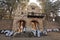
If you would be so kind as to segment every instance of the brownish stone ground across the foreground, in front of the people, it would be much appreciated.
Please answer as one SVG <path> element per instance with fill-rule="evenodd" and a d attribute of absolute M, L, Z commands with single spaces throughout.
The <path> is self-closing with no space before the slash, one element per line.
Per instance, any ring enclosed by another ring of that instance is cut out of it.
<path fill-rule="evenodd" d="M 47 36 L 42 36 L 40 38 L 20 38 L 20 37 L 5 37 L 5 35 L 0 34 L 0 40 L 60 40 L 59 32 L 49 32 Z"/>

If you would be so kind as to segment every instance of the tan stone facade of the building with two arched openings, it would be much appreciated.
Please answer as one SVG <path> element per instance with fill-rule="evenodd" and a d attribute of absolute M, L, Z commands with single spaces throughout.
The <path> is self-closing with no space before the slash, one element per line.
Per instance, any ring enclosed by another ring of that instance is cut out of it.
<path fill-rule="evenodd" d="M 18 31 L 20 29 L 18 21 L 24 20 L 26 22 L 26 30 L 27 31 L 31 31 L 31 29 L 32 29 L 31 21 L 37 21 L 39 23 L 38 26 L 39 26 L 40 31 L 43 31 L 43 21 L 45 20 L 45 18 L 28 18 L 28 14 L 31 12 L 34 12 L 34 14 L 36 14 L 36 16 L 39 16 L 39 15 L 37 15 L 38 13 L 42 14 L 40 7 L 38 7 L 34 3 L 27 5 L 26 8 L 23 10 L 22 10 L 21 6 L 19 5 L 17 7 L 17 9 L 14 11 L 15 16 L 14 16 L 12 30 Z"/>

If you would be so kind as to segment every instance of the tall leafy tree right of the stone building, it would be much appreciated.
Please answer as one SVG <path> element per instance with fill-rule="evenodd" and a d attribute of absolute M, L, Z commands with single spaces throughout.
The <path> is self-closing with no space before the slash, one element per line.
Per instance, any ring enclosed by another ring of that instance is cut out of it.
<path fill-rule="evenodd" d="M 46 2 L 45 2 L 45 13 L 46 13 L 46 16 L 48 17 L 48 19 L 50 19 L 49 15 L 51 14 L 51 12 L 53 14 L 53 17 L 55 15 L 57 15 L 57 11 L 59 9 L 59 6 L 60 6 L 59 0 L 57 0 L 55 2 L 51 2 L 50 0 L 46 0 Z"/>

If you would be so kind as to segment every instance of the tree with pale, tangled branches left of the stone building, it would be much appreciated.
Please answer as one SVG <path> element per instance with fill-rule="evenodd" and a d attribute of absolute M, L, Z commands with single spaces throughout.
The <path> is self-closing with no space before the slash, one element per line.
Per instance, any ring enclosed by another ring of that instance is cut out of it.
<path fill-rule="evenodd" d="M 10 18 L 11 18 L 13 9 L 16 9 L 16 7 L 18 5 L 16 3 L 16 0 L 5 0 L 5 1 L 3 0 L 3 1 L 0 1 L 0 2 L 1 2 L 1 4 L 0 4 L 0 10 L 4 10 L 4 11 L 1 11 L 0 14 L 2 15 L 2 14 L 5 14 L 7 11 L 9 11 Z"/>

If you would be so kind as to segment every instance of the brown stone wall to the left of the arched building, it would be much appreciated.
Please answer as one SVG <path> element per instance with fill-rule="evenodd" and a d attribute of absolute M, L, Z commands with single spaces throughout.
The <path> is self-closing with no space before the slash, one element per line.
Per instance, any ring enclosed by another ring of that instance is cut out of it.
<path fill-rule="evenodd" d="M 13 20 L 0 20 L 0 30 L 12 29 Z"/>

